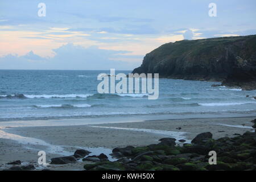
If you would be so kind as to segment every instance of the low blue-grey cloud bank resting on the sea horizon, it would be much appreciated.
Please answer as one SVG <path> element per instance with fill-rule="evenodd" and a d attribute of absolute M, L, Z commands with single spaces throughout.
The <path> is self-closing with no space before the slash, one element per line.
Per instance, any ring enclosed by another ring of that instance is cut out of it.
<path fill-rule="evenodd" d="M 133 69 L 141 60 L 136 56 L 125 55 L 129 51 L 100 49 L 97 46 L 84 48 L 72 43 L 52 49 L 53 57 L 41 57 L 33 51 L 24 56 L 6 55 L 0 57 L 2 69 Z"/>

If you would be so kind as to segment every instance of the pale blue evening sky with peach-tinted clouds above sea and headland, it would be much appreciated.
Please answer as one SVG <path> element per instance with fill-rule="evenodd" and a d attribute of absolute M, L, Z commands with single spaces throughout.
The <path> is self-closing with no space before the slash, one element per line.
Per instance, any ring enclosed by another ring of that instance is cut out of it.
<path fill-rule="evenodd" d="M 254 35 L 255 19 L 255 0 L 0 0 L 0 69 L 132 70 L 165 43 Z"/>

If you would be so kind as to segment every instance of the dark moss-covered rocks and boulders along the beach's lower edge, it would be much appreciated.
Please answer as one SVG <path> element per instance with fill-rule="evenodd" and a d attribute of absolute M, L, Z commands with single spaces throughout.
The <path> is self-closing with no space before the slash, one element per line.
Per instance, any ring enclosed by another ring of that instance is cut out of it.
<path fill-rule="evenodd" d="M 251 121 L 256 128 L 256 119 Z M 120 171 L 120 170 L 155 170 L 155 171 L 214 171 L 214 170 L 256 170 L 256 133 L 234 134 L 233 138 L 213 139 L 210 132 L 197 135 L 191 144 L 185 140 L 162 138 L 158 144 L 143 147 L 127 146 L 114 148 L 110 162 L 105 154 L 90 155 L 90 151 L 76 150 L 72 156 L 52 158 L 51 164 L 76 163 L 82 159 L 85 170 Z M 177 144 L 177 143 L 178 144 Z M 183 143 L 183 144 L 181 144 Z M 209 164 L 209 151 L 216 151 L 217 164 Z M 34 170 L 32 165 L 20 166 L 19 160 L 8 163 L 13 167 L 5 170 Z M 47 169 L 44 169 L 47 170 Z"/>

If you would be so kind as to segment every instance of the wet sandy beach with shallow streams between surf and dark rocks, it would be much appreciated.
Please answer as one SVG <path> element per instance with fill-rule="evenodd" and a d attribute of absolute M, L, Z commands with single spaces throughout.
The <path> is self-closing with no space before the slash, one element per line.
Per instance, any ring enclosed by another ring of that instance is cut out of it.
<path fill-rule="evenodd" d="M 96 125 L 86 123 L 75 126 L 1 127 L 0 168 L 10 168 L 11 165 L 6 163 L 21 160 L 22 164 L 33 164 L 38 170 L 82 170 L 83 165 L 88 162 L 39 166 L 38 151 L 46 151 L 47 162 L 57 156 L 73 155 L 80 148 L 91 151 L 90 155 L 104 153 L 110 160 L 114 160 L 109 154 L 115 147 L 145 146 L 158 143 L 164 137 L 185 139 L 185 143 L 189 143 L 197 134 L 207 131 L 213 134 L 214 139 L 233 137 L 234 134 L 253 131 L 250 122 L 253 119 L 254 117 L 164 119 Z"/>

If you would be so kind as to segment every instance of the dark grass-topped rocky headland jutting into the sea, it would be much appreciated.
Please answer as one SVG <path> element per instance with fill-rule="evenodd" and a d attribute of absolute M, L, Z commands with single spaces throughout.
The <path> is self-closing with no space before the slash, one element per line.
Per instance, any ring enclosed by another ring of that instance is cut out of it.
<path fill-rule="evenodd" d="M 256 35 L 167 43 L 147 53 L 133 73 L 256 88 Z"/>

